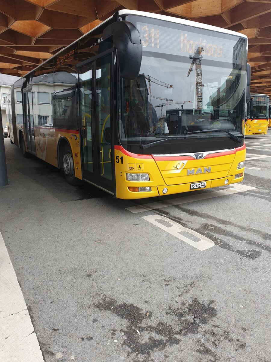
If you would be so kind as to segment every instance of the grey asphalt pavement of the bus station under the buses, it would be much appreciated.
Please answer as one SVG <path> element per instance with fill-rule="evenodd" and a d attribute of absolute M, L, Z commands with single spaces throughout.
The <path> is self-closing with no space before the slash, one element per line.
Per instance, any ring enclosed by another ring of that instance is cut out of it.
<path fill-rule="evenodd" d="M 124 201 L 5 139 L 0 231 L 44 361 L 271 361 L 271 130 L 246 147 L 241 184 Z"/>

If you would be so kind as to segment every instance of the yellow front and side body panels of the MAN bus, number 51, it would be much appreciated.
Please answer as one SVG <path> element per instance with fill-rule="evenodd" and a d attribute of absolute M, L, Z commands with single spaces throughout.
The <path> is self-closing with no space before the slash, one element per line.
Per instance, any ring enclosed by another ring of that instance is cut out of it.
<path fill-rule="evenodd" d="M 19 130 L 23 131 L 23 128 L 20 127 Z M 75 176 L 82 180 L 78 131 L 35 126 L 36 156 L 57 167 L 57 145 L 61 139 L 68 141 L 73 155 Z M 126 151 L 122 146 L 115 145 L 115 196 L 120 199 L 140 199 L 163 196 L 165 188 L 167 195 L 199 190 L 190 189 L 190 185 L 194 182 L 206 182 L 204 189 L 208 189 L 243 180 L 244 167 L 237 169 L 237 166 L 245 161 L 245 144 L 226 152 L 209 154 L 206 152 L 206 154 L 202 159 L 194 159 L 189 155 L 176 157 L 137 155 Z M 117 159 L 121 159 L 121 162 L 116 162 Z M 204 173 L 205 168 L 211 168 L 211 172 Z M 188 170 L 193 171 L 193 169 L 194 174 L 188 175 Z M 150 181 L 128 181 L 127 173 L 148 173 Z M 136 191 L 146 186 L 149 186 L 151 191 Z"/>

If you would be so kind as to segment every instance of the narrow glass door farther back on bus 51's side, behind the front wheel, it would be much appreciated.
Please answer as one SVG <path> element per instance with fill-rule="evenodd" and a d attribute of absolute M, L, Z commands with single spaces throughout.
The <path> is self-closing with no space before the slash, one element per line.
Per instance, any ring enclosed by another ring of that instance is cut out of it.
<path fill-rule="evenodd" d="M 27 151 L 36 154 L 34 119 L 33 119 L 33 96 L 32 87 L 23 90 L 23 109 L 25 122 L 25 136 L 27 143 Z"/>

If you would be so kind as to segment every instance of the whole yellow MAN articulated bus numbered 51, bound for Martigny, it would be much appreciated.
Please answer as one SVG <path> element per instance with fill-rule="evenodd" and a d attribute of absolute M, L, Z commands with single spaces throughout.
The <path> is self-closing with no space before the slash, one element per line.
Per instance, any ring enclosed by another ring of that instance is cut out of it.
<path fill-rule="evenodd" d="M 10 140 L 121 199 L 240 182 L 247 47 L 231 30 L 120 10 L 14 83 Z"/>

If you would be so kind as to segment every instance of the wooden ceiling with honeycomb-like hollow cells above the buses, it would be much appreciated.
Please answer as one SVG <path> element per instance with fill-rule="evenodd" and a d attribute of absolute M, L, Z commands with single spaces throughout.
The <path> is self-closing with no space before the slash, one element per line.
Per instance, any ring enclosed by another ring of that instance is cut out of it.
<path fill-rule="evenodd" d="M 271 96 L 271 0 L 0 0 L 0 73 L 25 75 L 120 9 L 247 35 L 251 92 Z"/>

